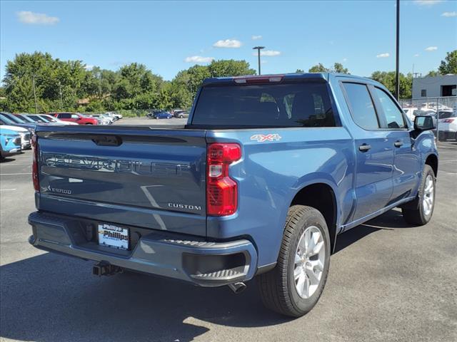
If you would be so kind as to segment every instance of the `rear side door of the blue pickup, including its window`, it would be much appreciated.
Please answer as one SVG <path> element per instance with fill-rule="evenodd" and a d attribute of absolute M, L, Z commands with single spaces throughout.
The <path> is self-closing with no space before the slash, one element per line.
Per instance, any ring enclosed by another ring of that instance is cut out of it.
<path fill-rule="evenodd" d="M 368 86 L 343 81 L 352 120 L 348 122 L 356 149 L 356 209 L 353 221 L 386 207 L 392 193 L 393 145 L 383 130 Z"/>

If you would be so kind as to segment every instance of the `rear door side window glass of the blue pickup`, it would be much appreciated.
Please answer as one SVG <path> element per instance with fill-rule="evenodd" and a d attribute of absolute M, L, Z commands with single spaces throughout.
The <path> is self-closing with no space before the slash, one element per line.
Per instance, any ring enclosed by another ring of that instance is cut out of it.
<path fill-rule="evenodd" d="M 360 83 L 343 83 L 348 95 L 348 105 L 354 122 L 366 130 L 379 128 L 378 117 L 374 109 L 373 100 L 366 85 Z"/>

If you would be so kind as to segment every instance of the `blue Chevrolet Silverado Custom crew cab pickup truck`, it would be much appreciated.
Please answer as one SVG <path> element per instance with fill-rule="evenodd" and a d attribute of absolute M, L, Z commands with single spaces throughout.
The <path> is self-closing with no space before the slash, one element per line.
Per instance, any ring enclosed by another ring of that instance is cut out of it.
<path fill-rule="evenodd" d="M 39 126 L 29 242 L 97 275 L 236 293 L 256 276 L 269 309 L 301 316 L 338 234 L 394 207 L 431 219 L 433 125 L 368 78 L 294 73 L 207 79 L 183 126 Z"/>

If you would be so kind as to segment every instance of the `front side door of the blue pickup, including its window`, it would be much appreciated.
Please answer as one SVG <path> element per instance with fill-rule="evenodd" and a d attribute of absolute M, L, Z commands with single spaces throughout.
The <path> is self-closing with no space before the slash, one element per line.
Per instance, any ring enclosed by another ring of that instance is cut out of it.
<path fill-rule="evenodd" d="M 408 123 L 403 111 L 390 94 L 376 86 L 369 87 L 379 113 L 381 127 L 388 130 L 388 144 L 393 147 L 392 195 L 389 202 L 410 197 L 418 184 L 418 154 L 413 151 Z"/>

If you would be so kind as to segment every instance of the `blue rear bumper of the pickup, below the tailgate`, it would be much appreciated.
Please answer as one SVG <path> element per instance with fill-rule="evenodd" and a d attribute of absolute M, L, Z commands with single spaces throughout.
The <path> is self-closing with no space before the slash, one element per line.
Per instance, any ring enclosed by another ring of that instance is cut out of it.
<path fill-rule="evenodd" d="M 257 252 L 246 239 L 206 242 L 192 236 L 148 230 L 131 251 L 89 241 L 86 225 L 72 217 L 34 212 L 30 244 L 81 259 L 104 261 L 125 269 L 180 279 L 199 286 L 247 281 L 256 273 Z"/>

